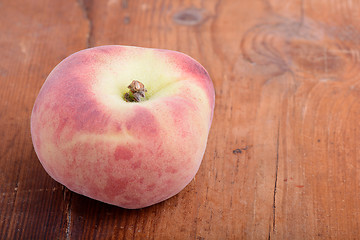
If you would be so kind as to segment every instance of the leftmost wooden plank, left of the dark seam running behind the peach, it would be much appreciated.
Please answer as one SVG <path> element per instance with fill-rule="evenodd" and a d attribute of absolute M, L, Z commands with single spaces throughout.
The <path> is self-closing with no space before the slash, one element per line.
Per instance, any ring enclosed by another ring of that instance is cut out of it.
<path fill-rule="evenodd" d="M 75 1 L 1 2 L 0 239 L 65 237 L 67 203 L 32 148 L 30 113 L 51 69 L 86 47 L 81 16 Z"/>

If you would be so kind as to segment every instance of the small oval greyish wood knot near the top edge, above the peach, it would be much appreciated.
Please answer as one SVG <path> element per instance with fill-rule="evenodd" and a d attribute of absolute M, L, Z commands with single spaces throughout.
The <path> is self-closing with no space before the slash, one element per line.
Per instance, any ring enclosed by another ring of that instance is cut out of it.
<path fill-rule="evenodd" d="M 187 8 L 177 12 L 173 16 L 173 21 L 179 25 L 194 26 L 203 21 L 203 9 Z"/>

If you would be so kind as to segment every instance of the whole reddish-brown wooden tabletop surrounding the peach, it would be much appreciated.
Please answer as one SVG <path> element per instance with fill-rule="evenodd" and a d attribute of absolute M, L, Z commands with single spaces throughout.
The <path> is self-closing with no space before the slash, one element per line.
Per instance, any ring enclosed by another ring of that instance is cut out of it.
<path fill-rule="evenodd" d="M 328 0 L 0 1 L 0 239 L 360 239 L 360 3 Z M 34 100 L 78 50 L 178 50 L 216 107 L 196 178 L 125 210 L 42 168 Z"/>

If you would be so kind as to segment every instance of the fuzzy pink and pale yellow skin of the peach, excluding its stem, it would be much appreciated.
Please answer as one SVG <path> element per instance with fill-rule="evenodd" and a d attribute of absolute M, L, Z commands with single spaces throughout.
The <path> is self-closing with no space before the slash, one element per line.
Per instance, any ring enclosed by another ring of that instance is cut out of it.
<path fill-rule="evenodd" d="M 132 80 L 144 101 L 126 102 Z M 180 192 L 202 161 L 215 93 L 179 52 L 102 46 L 64 59 L 46 79 L 31 136 L 46 172 L 70 190 L 123 208 Z"/>

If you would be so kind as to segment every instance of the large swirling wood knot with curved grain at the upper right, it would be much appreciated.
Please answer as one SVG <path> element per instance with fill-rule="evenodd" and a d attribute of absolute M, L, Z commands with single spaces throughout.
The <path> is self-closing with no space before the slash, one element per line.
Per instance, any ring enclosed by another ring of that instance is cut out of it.
<path fill-rule="evenodd" d="M 349 71 L 357 75 L 355 51 L 333 37 L 324 41 L 324 34 L 326 29 L 316 22 L 270 18 L 246 32 L 241 49 L 244 59 L 260 65 L 268 76 L 292 72 L 305 78 L 344 79 Z"/>

